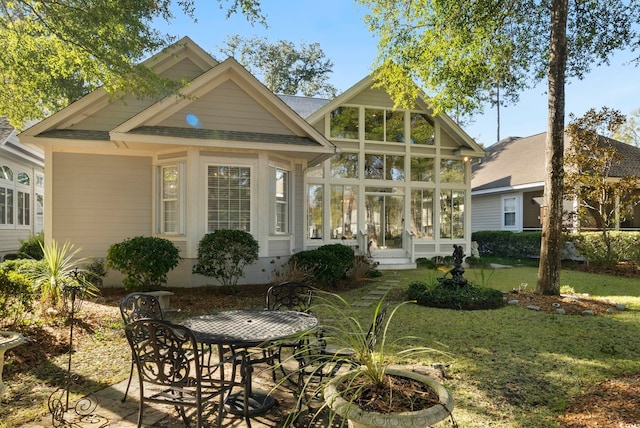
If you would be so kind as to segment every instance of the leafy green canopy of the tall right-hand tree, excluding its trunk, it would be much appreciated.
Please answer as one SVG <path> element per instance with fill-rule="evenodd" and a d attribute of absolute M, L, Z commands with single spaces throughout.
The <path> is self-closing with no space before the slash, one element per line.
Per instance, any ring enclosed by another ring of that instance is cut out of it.
<path fill-rule="evenodd" d="M 474 113 L 499 84 L 505 102 L 548 75 L 551 3 L 536 0 L 358 0 L 378 33 L 376 77 L 398 105 L 418 83 L 436 112 Z M 638 44 L 638 1 L 571 0 L 567 77 Z"/>

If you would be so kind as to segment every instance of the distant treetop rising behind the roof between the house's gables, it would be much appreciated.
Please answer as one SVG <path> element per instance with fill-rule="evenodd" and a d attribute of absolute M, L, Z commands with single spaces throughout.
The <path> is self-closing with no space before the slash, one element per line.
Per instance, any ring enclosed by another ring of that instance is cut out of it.
<path fill-rule="evenodd" d="M 318 43 L 279 40 L 270 43 L 266 37 L 229 36 L 221 52 L 234 57 L 272 92 L 307 97 L 335 97 L 337 89 L 327 81 L 333 63 L 325 58 Z"/>

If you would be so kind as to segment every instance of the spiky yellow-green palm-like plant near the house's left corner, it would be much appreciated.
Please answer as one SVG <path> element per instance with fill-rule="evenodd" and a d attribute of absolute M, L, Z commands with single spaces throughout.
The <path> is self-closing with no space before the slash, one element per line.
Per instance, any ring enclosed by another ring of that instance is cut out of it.
<path fill-rule="evenodd" d="M 74 248 L 68 241 L 62 246 L 52 239 L 50 243 L 42 245 L 43 264 L 32 276 L 33 285 L 40 292 L 40 300 L 51 307 L 59 307 L 62 303 L 62 293 L 67 285 L 83 285 L 89 294 L 95 294 L 97 289 L 85 281 L 83 272 L 78 265 L 86 259 L 76 255 L 81 251 Z"/>

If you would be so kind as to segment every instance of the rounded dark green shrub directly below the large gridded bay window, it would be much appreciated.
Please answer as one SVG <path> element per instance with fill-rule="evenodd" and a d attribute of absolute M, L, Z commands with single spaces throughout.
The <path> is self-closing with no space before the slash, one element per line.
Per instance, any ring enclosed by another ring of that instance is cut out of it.
<path fill-rule="evenodd" d="M 200 240 L 193 273 L 216 278 L 222 285 L 235 288 L 244 276 L 244 267 L 258 260 L 258 250 L 258 241 L 248 232 L 216 230 Z"/>

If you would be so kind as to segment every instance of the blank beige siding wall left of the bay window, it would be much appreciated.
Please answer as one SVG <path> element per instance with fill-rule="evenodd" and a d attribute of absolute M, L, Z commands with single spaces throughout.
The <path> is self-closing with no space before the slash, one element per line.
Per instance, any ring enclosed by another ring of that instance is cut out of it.
<path fill-rule="evenodd" d="M 151 158 L 53 154 L 53 238 L 105 257 L 110 245 L 151 234 Z"/>

